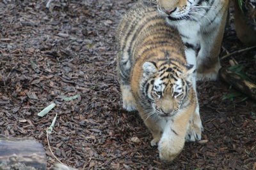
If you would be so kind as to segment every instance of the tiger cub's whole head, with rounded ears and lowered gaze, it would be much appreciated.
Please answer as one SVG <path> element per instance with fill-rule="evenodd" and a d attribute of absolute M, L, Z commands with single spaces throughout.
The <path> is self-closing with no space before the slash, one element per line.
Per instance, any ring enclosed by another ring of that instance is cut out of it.
<path fill-rule="evenodd" d="M 180 110 L 191 89 L 189 76 L 195 70 L 192 65 L 184 67 L 186 73 L 170 64 L 158 67 L 155 62 L 143 64 L 141 91 L 148 101 L 143 104 L 149 106 L 149 117 L 172 117 Z"/>

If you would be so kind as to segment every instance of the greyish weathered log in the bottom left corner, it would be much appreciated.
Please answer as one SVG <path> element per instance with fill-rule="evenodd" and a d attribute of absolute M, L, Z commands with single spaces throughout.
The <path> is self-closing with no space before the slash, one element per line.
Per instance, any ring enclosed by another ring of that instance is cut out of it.
<path fill-rule="evenodd" d="M 31 138 L 0 136 L 0 169 L 46 169 L 44 146 Z"/>

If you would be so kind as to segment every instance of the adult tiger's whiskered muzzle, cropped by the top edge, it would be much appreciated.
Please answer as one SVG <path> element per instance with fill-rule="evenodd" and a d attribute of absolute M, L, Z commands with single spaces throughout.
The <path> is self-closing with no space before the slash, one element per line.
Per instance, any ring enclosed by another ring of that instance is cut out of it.
<path fill-rule="evenodd" d="M 200 0 L 156 0 L 159 12 L 172 21 L 199 20 L 209 7 Z M 198 4 L 199 3 L 199 4 Z"/>

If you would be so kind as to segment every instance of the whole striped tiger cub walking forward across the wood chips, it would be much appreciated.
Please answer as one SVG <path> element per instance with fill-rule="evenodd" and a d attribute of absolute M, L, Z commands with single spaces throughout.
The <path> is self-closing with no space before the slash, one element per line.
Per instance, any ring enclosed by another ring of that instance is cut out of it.
<path fill-rule="evenodd" d="M 154 6 L 139 1 L 120 21 L 117 41 L 123 107 L 138 110 L 160 159 L 172 161 L 185 140 L 201 138 L 202 129 L 195 67 L 188 64 L 179 32 Z"/>

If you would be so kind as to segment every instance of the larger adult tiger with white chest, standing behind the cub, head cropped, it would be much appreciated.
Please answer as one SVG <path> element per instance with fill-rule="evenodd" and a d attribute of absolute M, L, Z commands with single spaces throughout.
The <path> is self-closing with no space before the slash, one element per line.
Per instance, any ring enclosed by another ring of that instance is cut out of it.
<path fill-rule="evenodd" d="M 168 24 L 179 30 L 188 63 L 196 66 L 198 80 L 216 80 L 229 0 L 156 0 L 156 3 Z"/>

